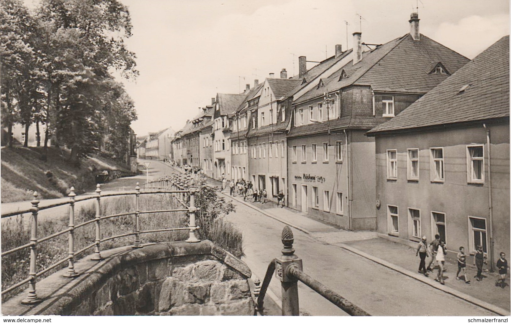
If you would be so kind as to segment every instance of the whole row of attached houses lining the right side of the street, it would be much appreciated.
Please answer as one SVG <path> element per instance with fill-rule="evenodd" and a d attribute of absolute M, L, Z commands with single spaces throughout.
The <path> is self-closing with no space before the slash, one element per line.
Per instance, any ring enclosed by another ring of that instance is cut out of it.
<path fill-rule="evenodd" d="M 218 93 L 176 132 L 174 162 L 279 191 L 288 207 L 402 243 L 509 252 L 508 37 L 470 61 L 410 32 L 335 45 L 292 77 Z M 493 175 L 493 177 L 492 177 Z M 495 228 L 495 230 L 494 230 Z"/>

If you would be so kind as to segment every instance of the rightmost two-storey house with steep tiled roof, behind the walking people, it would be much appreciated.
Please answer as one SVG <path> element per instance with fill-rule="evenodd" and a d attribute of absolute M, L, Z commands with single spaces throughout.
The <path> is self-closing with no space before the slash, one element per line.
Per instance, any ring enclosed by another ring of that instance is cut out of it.
<path fill-rule="evenodd" d="M 493 265 L 509 254 L 509 36 L 452 72 L 367 132 L 377 228 L 405 244 L 439 234 L 452 256 L 481 245 Z"/>

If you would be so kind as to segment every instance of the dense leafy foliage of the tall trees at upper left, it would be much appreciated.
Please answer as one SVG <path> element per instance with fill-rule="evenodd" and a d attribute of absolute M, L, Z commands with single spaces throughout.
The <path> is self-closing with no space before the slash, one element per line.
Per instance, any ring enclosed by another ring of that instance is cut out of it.
<path fill-rule="evenodd" d="M 127 151 L 134 103 L 112 73 L 138 75 L 128 8 L 117 0 L 0 0 L 2 124 L 47 124 L 45 146 L 71 149 L 69 160 L 107 148 Z M 27 128 L 28 129 L 28 128 Z"/>

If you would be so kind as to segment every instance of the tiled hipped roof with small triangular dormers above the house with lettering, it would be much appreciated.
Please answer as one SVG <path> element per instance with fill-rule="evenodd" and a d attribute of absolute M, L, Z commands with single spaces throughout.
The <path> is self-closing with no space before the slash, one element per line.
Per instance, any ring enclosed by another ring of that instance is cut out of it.
<path fill-rule="evenodd" d="M 441 62 L 451 73 L 469 60 L 430 38 L 415 41 L 410 34 L 391 40 L 362 54 L 362 60 L 348 62 L 329 78 L 326 88 L 312 89 L 295 98 L 295 103 L 322 96 L 350 85 L 368 85 L 375 91 L 426 93 L 448 74 L 428 74 Z M 339 79 L 344 70 L 348 77 Z"/>

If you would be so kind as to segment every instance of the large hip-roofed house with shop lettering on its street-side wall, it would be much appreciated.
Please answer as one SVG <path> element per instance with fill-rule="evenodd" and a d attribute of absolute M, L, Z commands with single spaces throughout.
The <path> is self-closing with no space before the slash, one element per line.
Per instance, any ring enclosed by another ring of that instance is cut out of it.
<path fill-rule="evenodd" d="M 390 120 L 469 60 L 419 33 L 362 43 L 293 95 L 288 205 L 347 229 L 376 229 L 375 143 L 364 133 Z M 364 51 L 365 49 L 365 51 Z M 332 58 L 334 59 L 334 58 Z"/>

